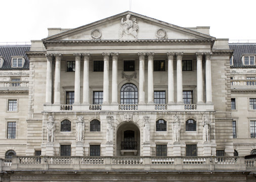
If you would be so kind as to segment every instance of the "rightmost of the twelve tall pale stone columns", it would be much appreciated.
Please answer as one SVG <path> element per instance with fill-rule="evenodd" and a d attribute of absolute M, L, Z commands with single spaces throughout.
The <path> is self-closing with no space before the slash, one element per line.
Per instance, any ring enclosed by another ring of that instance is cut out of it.
<path fill-rule="evenodd" d="M 211 68 L 210 68 L 210 57 L 211 53 L 205 54 L 205 85 L 206 85 L 206 103 L 212 103 L 211 101 Z"/>

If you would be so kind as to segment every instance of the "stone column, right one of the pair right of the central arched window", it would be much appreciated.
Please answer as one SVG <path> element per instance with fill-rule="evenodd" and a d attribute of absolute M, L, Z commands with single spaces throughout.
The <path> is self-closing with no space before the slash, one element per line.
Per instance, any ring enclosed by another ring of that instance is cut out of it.
<path fill-rule="evenodd" d="M 148 56 L 148 104 L 154 103 L 154 53 L 147 53 Z"/>

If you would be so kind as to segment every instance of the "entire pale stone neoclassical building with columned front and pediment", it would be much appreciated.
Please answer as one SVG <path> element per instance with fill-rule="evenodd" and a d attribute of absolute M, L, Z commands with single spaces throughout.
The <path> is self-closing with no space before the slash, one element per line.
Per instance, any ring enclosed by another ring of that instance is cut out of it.
<path fill-rule="evenodd" d="M 255 180 L 256 51 L 133 12 L 48 30 L 0 47 L 2 180 Z"/>

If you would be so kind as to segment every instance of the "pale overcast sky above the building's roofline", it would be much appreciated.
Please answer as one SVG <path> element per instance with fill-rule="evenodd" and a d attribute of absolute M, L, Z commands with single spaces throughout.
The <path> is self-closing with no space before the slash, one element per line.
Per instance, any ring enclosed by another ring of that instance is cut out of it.
<path fill-rule="evenodd" d="M 0 42 L 47 37 L 129 11 L 131 0 L 2 0 Z M 181 27 L 210 26 L 217 38 L 256 40 L 255 0 L 132 0 L 131 11 Z"/>

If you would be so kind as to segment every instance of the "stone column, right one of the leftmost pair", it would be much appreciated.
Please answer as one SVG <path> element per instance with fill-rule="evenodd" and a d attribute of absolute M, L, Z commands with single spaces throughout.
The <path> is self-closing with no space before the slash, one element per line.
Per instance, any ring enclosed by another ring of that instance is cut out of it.
<path fill-rule="evenodd" d="M 55 56 L 54 104 L 60 104 L 60 64 L 62 54 Z"/>

